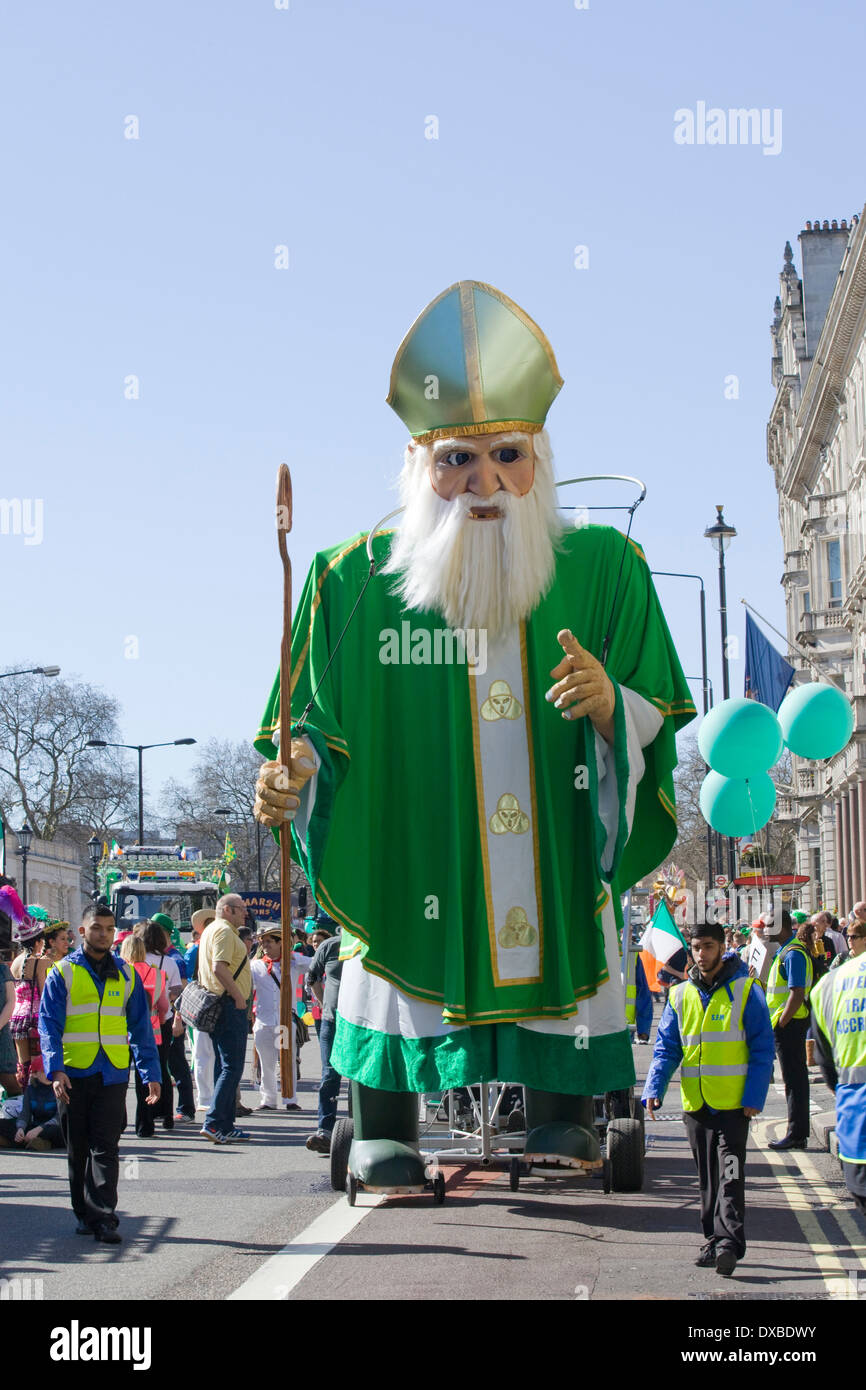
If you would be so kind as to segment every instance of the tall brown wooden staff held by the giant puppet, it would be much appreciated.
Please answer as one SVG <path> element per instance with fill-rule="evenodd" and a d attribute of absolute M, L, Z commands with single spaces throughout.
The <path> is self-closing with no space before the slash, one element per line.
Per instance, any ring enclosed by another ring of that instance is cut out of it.
<path fill-rule="evenodd" d="M 292 777 L 292 562 L 286 535 L 292 530 L 292 475 L 285 463 L 277 474 L 277 538 L 282 560 L 282 641 L 279 644 L 279 762 Z M 279 827 L 279 1090 L 288 1101 L 295 1087 L 295 998 L 292 990 L 292 831 Z"/>

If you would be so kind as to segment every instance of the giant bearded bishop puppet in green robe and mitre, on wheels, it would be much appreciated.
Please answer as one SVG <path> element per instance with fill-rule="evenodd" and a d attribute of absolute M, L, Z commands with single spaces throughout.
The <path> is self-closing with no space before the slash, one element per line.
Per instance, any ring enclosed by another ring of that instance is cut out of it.
<path fill-rule="evenodd" d="M 527 1152 L 595 1159 L 588 1098 L 634 1081 L 619 894 L 674 842 L 695 710 L 641 549 L 560 520 L 560 386 L 506 295 L 461 281 L 428 304 L 388 396 L 410 434 L 399 528 L 350 621 L 367 532 L 317 555 L 296 612 L 288 790 L 278 685 L 256 741 L 256 815 L 291 821 L 343 927 L 332 1062 L 360 1083 L 370 1186 L 411 1151 L 417 1093 L 523 1083 Z"/>

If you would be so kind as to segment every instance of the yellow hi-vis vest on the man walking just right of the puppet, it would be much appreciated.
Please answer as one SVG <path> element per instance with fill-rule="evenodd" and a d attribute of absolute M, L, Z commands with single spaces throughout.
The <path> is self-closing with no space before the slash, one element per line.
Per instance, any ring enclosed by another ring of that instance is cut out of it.
<path fill-rule="evenodd" d="M 737 1111 L 749 1069 L 749 1049 L 742 1027 L 745 1001 L 753 980 L 738 976 L 710 995 L 706 1009 L 691 980 L 677 984 L 669 1004 L 677 1015 L 683 1063 L 680 1098 L 684 1111 L 709 1105 L 714 1111 Z"/>

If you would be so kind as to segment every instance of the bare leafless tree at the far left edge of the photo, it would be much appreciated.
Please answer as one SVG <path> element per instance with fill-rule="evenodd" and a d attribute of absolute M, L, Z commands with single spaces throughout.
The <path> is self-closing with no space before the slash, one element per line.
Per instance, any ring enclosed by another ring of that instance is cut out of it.
<path fill-rule="evenodd" d="M 14 676 L 0 681 L 0 812 L 26 820 L 40 840 L 64 827 L 104 835 L 135 805 L 131 764 L 115 749 L 86 748 L 88 739 L 120 739 L 120 705 L 71 677 L 46 681 Z"/>

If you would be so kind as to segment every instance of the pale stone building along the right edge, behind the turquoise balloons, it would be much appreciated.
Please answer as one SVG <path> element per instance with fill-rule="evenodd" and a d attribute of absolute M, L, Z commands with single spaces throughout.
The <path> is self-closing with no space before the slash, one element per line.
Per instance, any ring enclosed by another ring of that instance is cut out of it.
<path fill-rule="evenodd" d="M 773 318 L 767 457 L 784 542 L 795 682 L 828 680 L 853 703 L 848 748 L 794 758 L 777 813 L 796 823 L 801 906 L 866 897 L 866 220 L 806 222 L 798 275 L 785 245 Z"/>

